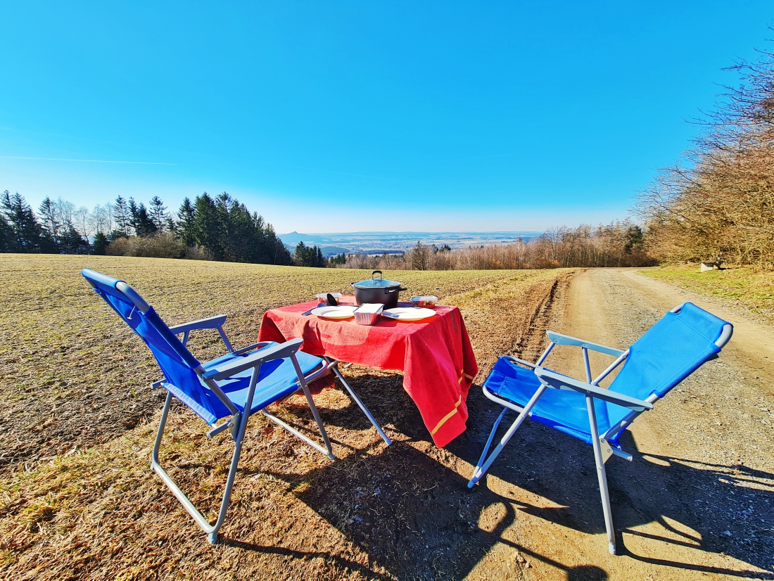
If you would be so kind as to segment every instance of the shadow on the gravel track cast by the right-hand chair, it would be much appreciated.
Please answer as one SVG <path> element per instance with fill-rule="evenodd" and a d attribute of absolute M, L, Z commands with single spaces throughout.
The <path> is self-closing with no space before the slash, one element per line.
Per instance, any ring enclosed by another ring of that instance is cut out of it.
<path fill-rule="evenodd" d="M 470 399 L 474 399 L 473 394 Z M 485 419 L 476 426 L 469 426 L 450 444 L 449 451 L 467 462 L 477 463 L 498 413 L 498 409 L 482 413 L 480 417 Z M 506 419 L 504 424 L 510 425 L 515 419 L 515 415 L 509 417 L 510 421 Z M 504 431 L 501 426 L 498 436 Z M 677 569 L 728 576 L 752 574 L 759 579 L 774 579 L 771 560 L 774 555 L 774 487 L 771 484 L 774 473 L 742 465 L 640 454 L 629 431 L 624 432 L 621 444 L 634 456 L 632 462 L 613 456 L 605 465 L 619 555 Z M 519 511 L 577 531 L 590 534 L 605 531 L 594 453 L 591 446 L 577 439 L 536 422 L 526 422 L 492 464 L 488 474 L 567 507 L 546 510 L 523 504 Z M 571 486 L 567 485 L 568 476 L 572 479 Z M 702 510 L 703 505 L 707 507 L 710 503 L 713 520 Z M 759 519 L 755 538 L 734 534 L 740 518 Z M 653 522 L 669 531 L 670 537 L 637 530 Z M 681 526 L 675 527 L 672 522 Z M 686 528 L 695 533 L 687 532 Z M 769 573 L 761 576 L 760 572 L 736 572 L 638 555 L 626 547 L 626 535 L 722 553 Z"/>

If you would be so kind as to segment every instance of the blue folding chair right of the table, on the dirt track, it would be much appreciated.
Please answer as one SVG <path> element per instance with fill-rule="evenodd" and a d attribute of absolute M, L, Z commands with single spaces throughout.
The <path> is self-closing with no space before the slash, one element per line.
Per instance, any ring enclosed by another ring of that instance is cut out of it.
<path fill-rule="evenodd" d="M 550 344 L 536 364 L 515 357 L 500 357 L 484 381 L 483 389 L 484 395 L 502 405 L 503 410 L 467 487 L 473 487 L 484 476 L 528 416 L 574 436 L 594 448 L 604 525 L 608 531 L 610 553 L 615 555 L 615 531 L 604 463 L 614 454 L 632 460 L 632 455 L 618 444 L 618 438 L 628 425 L 646 409 L 652 409 L 657 399 L 696 371 L 704 361 L 717 357 L 731 339 L 733 329 L 731 323 L 686 302 L 666 313 L 625 351 L 549 331 Z M 586 381 L 577 381 L 542 367 L 555 345 L 580 347 Z M 593 380 L 588 360 L 590 349 L 616 357 Z M 619 365 L 622 367 L 610 387 L 601 388 L 599 382 Z M 498 425 L 509 410 L 519 415 L 487 457 Z"/>

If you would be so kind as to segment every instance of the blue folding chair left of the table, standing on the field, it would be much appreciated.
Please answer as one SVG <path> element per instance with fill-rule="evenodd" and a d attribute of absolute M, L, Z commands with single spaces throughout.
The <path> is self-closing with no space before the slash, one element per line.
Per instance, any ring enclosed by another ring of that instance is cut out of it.
<path fill-rule="evenodd" d="M 320 357 L 301 352 L 299 350 L 303 342 L 301 339 L 289 340 L 286 343 L 255 343 L 244 349 L 234 350 L 223 330 L 225 315 L 168 327 L 153 307 L 125 282 L 89 268 L 84 268 L 81 274 L 94 287 L 98 295 L 118 313 L 118 316 L 142 338 L 163 371 L 164 379 L 153 384 L 153 387 L 160 386 L 166 389 L 167 395 L 159 432 L 156 434 L 156 443 L 153 446 L 151 468 L 159 474 L 194 521 L 207 533 L 209 542 L 217 541 L 217 531 L 223 525 L 228 510 L 241 445 L 251 414 L 262 412 L 293 436 L 302 439 L 331 460 L 334 459 L 330 440 L 307 384 L 327 373 L 331 367 L 335 367 L 335 363 L 328 364 Z M 201 329 L 217 330 L 228 353 L 205 363 L 197 361 L 197 358 L 187 349 L 186 343 L 191 331 Z M 181 333 L 182 341 L 176 337 Z M 265 410 L 269 404 L 299 390 L 307 397 L 312 415 L 320 428 L 324 447 Z M 207 436 L 212 437 L 228 429 L 235 441 L 221 509 L 214 524 L 210 524 L 194 507 L 159 463 L 159 446 L 173 396 L 191 408 L 208 425 L 214 425 L 219 420 L 228 418 L 207 432 Z"/>

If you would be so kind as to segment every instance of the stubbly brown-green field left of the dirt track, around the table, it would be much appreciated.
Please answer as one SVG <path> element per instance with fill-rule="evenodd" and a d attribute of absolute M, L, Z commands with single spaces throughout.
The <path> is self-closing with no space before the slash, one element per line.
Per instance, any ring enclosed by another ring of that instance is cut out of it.
<path fill-rule="evenodd" d="M 469 429 L 447 449 L 437 449 L 402 390 L 401 376 L 354 366 L 345 373 L 394 445 L 385 446 L 337 388 L 315 398 L 337 460 L 255 417 L 222 542 L 207 545 L 149 471 L 166 395 L 150 387 L 158 368 L 80 276 L 84 267 L 127 281 L 170 325 L 227 314 L 225 329 L 235 347 L 255 341 L 267 309 L 310 300 L 316 292 L 351 293 L 351 282 L 371 274 L 0 255 L 4 578 L 459 579 L 496 542 L 485 511 L 491 498 L 464 486 L 483 432 Z M 435 294 L 461 308 L 481 369 L 468 408 L 471 421 L 484 425 L 496 412 L 481 396 L 480 382 L 498 355 L 537 353 L 541 317 L 571 275 L 385 272 L 408 288 L 402 298 Z M 203 333 L 192 337 L 190 347 L 204 360 L 220 354 L 222 343 L 217 333 Z M 284 402 L 276 413 L 310 422 L 300 399 Z M 208 440 L 204 422 L 182 406 L 170 416 L 162 462 L 212 516 L 231 439 L 221 434 Z"/>

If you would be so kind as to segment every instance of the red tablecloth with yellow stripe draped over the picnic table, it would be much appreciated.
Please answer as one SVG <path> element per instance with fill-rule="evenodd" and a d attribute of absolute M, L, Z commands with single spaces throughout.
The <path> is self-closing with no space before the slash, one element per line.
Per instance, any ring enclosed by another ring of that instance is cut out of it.
<path fill-rule="evenodd" d="M 344 296 L 343 304 L 354 303 Z M 323 320 L 301 313 L 317 306 L 303 302 L 267 311 L 259 341 L 303 338 L 303 351 L 368 367 L 403 372 L 403 388 L 416 403 L 439 448 L 465 430 L 467 391 L 478 373 L 460 309 L 435 307 L 436 316 L 406 323 L 379 317 L 372 326 L 354 319 Z"/>

